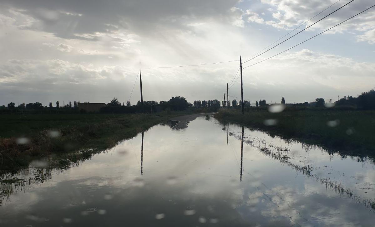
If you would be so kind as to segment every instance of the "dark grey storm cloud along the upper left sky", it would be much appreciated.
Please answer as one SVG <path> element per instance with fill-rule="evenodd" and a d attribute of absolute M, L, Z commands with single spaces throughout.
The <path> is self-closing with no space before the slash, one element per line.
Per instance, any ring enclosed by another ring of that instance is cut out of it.
<path fill-rule="evenodd" d="M 181 18 L 214 18 L 222 20 L 238 0 L 5 0 L 7 7 L 37 19 L 41 29 L 57 37 L 77 38 L 74 34 L 108 33 L 129 29 L 146 33 L 161 26 L 178 27 Z M 81 39 L 87 37 L 80 36 Z"/>

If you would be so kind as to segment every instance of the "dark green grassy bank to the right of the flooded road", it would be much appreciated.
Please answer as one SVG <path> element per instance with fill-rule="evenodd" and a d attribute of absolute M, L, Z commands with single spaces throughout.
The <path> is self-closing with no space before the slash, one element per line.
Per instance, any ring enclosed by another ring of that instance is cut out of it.
<path fill-rule="evenodd" d="M 236 109 L 221 109 L 215 118 L 258 128 L 273 136 L 320 145 L 342 155 L 375 155 L 375 111 L 287 107 L 281 113 L 270 113 L 267 108 L 254 107 L 245 114 Z M 267 122 L 269 119 L 276 121 Z"/>

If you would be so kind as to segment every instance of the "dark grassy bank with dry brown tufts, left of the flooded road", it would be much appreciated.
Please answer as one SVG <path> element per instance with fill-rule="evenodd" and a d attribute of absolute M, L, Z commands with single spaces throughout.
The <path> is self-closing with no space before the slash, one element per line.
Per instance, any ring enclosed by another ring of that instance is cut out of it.
<path fill-rule="evenodd" d="M 1 114 L 0 169 L 27 166 L 31 160 L 49 154 L 80 156 L 113 147 L 122 139 L 190 112 L 157 114 Z M 90 149 L 85 149 L 90 148 Z"/>

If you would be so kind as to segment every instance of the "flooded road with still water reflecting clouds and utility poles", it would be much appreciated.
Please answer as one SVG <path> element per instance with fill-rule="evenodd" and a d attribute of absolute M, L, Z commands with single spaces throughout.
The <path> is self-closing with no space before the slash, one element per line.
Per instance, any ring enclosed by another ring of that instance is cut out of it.
<path fill-rule="evenodd" d="M 374 226 L 375 220 L 372 160 L 330 155 L 213 117 L 183 129 L 154 126 L 41 182 L 17 192 L 13 184 L 0 226 Z"/>

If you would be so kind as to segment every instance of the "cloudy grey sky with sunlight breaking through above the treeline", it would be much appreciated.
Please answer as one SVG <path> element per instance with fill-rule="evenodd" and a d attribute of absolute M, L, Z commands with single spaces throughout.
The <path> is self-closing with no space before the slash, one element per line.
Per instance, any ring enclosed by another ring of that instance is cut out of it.
<path fill-rule="evenodd" d="M 223 100 L 231 82 L 229 95 L 240 97 L 239 74 L 235 76 L 239 61 L 234 60 L 241 55 L 245 62 L 336 1 L 0 0 L 0 105 L 107 103 L 113 97 L 126 102 L 130 95 L 135 104 L 140 99 L 139 69 L 144 101 L 172 96 L 189 102 Z M 349 1 L 339 0 L 291 34 Z M 354 0 L 243 67 L 373 4 Z M 244 68 L 243 94 L 251 102 L 281 102 L 284 96 L 287 103 L 357 96 L 374 89 L 374 55 L 375 7 Z M 155 69 L 224 61 L 234 62 Z"/>

